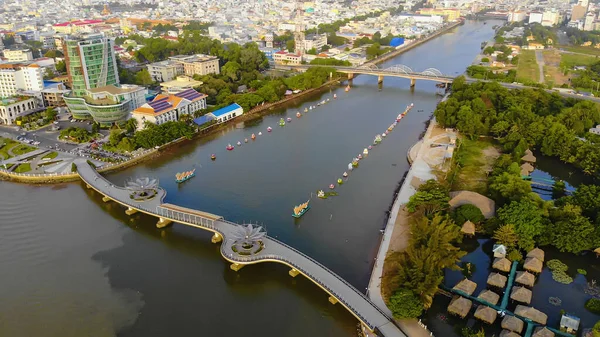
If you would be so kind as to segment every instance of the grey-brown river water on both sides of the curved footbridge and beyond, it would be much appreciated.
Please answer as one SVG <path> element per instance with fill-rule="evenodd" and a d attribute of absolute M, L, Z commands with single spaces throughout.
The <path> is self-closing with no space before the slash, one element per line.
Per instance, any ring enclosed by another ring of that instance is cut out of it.
<path fill-rule="evenodd" d="M 494 24 L 467 22 L 387 65 L 462 73 Z M 167 202 L 258 222 L 365 289 L 386 211 L 408 169 L 406 153 L 438 100 L 433 82 L 418 81 L 411 91 L 408 80 L 386 78 L 380 89 L 375 77 L 359 76 L 348 93 L 340 86 L 303 98 L 108 179 L 157 177 Z M 294 205 L 335 183 L 411 102 L 415 108 L 336 189 L 339 196 L 313 198 L 301 219 L 290 216 Z M 281 128 L 281 117 L 293 121 Z M 259 131 L 256 141 L 225 150 Z M 177 185 L 175 173 L 191 168 L 197 176 Z M 0 336 L 356 334 L 353 316 L 310 281 L 274 264 L 233 272 L 201 230 L 158 230 L 155 218 L 126 216 L 81 183 L 0 184 Z"/>

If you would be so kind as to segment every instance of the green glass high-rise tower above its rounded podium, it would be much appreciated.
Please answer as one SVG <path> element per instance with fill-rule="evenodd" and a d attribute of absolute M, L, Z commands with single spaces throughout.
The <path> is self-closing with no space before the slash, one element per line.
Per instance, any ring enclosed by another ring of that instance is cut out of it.
<path fill-rule="evenodd" d="M 73 95 L 88 89 L 119 84 L 114 41 L 102 34 L 63 38 L 63 54 Z"/>

